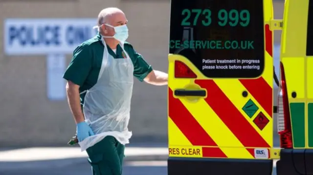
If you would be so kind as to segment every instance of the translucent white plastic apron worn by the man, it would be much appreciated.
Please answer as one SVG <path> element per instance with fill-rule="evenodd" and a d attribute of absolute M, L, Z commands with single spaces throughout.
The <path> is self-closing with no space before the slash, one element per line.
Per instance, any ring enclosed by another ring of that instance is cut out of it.
<path fill-rule="evenodd" d="M 134 84 L 134 65 L 120 46 L 127 58 L 113 58 L 104 45 L 102 65 L 97 83 L 91 87 L 84 99 L 85 121 L 94 136 L 79 142 L 82 151 L 101 141 L 105 136 L 114 136 L 121 144 L 129 143 L 132 132 L 128 131 L 131 98 Z"/>

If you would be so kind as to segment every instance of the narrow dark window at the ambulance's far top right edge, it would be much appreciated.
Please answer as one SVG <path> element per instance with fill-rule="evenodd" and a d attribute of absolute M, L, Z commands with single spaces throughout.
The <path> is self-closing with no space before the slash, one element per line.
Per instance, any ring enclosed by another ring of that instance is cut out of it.
<path fill-rule="evenodd" d="M 313 56 L 313 0 L 309 0 L 307 28 L 307 56 Z"/>

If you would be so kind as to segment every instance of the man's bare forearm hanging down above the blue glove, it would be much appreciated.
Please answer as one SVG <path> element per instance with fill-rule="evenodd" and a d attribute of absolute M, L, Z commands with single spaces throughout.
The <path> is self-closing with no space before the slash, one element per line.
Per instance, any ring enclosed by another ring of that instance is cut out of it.
<path fill-rule="evenodd" d="M 79 90 L 67 88 L 67 101 L 76 124 L 84 121 L 85 117 L 80 104 Z"/>

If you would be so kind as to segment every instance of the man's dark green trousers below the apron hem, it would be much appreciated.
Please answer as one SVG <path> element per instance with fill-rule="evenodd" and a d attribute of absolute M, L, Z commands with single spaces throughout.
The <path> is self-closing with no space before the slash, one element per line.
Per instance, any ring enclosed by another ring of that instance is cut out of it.
<path fill-rule="evenodd" d="M 122 175 L 125 146 L 113 136 L 106 136 L 86 152 L 92 175 Z"/>

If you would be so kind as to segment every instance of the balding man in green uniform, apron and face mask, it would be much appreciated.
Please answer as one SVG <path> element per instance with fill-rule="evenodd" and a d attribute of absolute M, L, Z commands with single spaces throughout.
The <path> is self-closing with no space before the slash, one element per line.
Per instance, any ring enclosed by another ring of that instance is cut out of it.
<path fill-rule="evenodd" d="M 98 35 L 73 52 L 64 78 L 67 99 L 76 122 L 81 150 L 86 150 L 93 175 L 121 175 L 134 77 L 153 85 L 166 85 L 168 75 L 153 70 L 126 42 L 125 14 L 103 9 Z"/>

